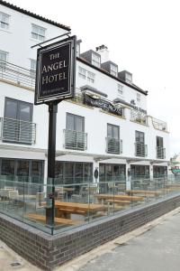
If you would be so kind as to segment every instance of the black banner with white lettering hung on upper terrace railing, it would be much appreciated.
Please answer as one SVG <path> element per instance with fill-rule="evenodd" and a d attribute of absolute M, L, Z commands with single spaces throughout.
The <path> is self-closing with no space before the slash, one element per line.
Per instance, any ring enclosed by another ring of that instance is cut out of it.
<path fill-rule="evenodd" d="M 114 107 L 112 103 L 102 98 L 94 98 L 88 94 L 84 94 L 84 103 L 91 107 L 100 107 L 104 111 L 108 111 L 114 115 L 123 116 L 122 107 Z"/>

